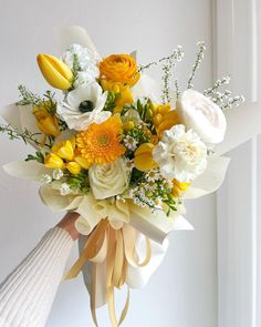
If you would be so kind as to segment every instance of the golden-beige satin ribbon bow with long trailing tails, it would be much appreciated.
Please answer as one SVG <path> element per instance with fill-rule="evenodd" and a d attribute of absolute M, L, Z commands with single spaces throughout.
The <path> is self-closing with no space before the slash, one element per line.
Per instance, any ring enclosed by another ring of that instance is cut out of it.
<path fill-rule="evenodd" d="M 135 267 L 144 267 L 149 263 L 152 257 L 150 242 L 146 236 L 145 239 L 146 255 L 144 260 L 139 263 L 136 251 L 136 231 L 134 228 L 126 228 L 125 226 L 114 229 L 108 219 L 102 219 L 90 234 L 79 259 L 65 275 L 65 279 L 75 278 L 88 260 L 93 263 L 91 311 L 96 327 L 98 327 L 96 317 L 97 265 L 104 259 L 106 260 L 106 300 L 108 313 L 112 326 L 118 327 L 127 315 L 129 288 L 127 289 L 126 303 L 118 321 L 115 313 L 114 288 L 121 288 L 125 284 L 128 264 Z"/>

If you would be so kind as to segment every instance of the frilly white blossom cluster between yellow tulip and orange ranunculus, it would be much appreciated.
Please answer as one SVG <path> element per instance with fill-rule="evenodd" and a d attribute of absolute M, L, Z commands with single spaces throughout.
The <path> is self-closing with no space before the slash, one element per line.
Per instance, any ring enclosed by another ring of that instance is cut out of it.
<path fill-rule="evenodd" d="M 79 64 L 77 79 L 74 86 L 85 82 L 94 81 L 98 78 L 97 63 L 101 57 L 88 48 L 80 44 L 72 44 L 63 54 L 62 60 L 71 68 L 74 68 L 75 58 Z"/>

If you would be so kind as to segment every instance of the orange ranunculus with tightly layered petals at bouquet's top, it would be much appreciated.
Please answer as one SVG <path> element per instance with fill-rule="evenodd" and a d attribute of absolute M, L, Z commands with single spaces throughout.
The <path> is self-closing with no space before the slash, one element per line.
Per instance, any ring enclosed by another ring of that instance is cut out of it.
<path fill-rule="evenodd" d="M 139 79 L 135 59 L 129 54 L 112 54 L 100 62 L 101 78 L 133 86 Z"/>

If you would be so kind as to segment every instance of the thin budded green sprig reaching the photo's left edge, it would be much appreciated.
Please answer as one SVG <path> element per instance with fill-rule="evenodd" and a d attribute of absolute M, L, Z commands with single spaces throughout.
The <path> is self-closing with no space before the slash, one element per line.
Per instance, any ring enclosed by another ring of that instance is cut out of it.
<path fill-rule="evenodd" d="M 25 144 L 33 143 L 34 145 L 42 147 L 46 146 L 49 149 L 52 147 L 52 140 L 48 137 L 49 143 L 42 144 L 36 140 L 36 136 L 42 135 L 42 133 L 31 133 L 28 130 L 19 132 L 15 129 L 12 129 L 10 125 L 0 125 L 0 133 L 6 133 L 10 140 L 22 140 Z"/>

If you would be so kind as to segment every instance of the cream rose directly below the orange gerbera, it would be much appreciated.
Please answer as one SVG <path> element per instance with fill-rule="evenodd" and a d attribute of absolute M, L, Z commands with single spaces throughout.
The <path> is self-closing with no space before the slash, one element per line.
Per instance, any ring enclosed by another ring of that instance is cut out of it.
<path fill-rule="evenodd" d="M 90 185 L 95 198 L 103 200 L 123 194 L 129 182 L 129 170 L 122 159 L 88 170 Z"/>

